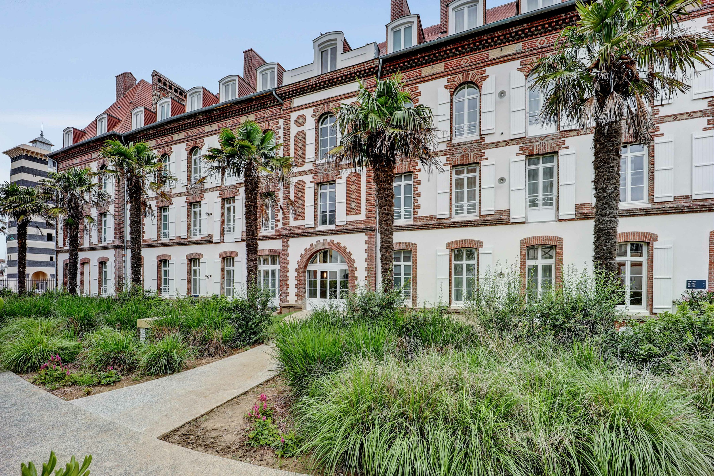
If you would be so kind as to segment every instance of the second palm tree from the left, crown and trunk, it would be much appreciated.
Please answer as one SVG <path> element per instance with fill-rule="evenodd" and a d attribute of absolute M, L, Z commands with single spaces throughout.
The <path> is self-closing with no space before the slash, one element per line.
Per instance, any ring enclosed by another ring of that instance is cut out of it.
<path fill-rule="evenodd" d="M 102 206 L 109 201 L 109 194 L 100 182 L 94 181 L 96 174 L 89 168 L 73 167 L 62 172 L 52 172 L 49 178 L 39 181 L 39 192 L 48 203 L 49 216 L 58 226 L 67 227 L 69 241 L 69 270 L 67 287 L 69 293 L 77 293 L 77 271 L 79 270 L 79 227 L 81 223 L 91 227 L 96 220 L 87 213 L 89 207 Z"/>

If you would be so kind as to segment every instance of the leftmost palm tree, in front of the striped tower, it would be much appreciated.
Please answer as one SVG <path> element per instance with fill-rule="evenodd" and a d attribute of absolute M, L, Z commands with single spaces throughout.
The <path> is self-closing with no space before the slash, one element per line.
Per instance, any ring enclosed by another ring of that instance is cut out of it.
<path fill-rule="evenodd" d="M 27 228 L 36 218 L 51 221 L 47 204 L 36 188 L 16 183 L 0 185 L 0 215 L 14 221 L 17 228 L 17 292 L 26 290 Z"/>

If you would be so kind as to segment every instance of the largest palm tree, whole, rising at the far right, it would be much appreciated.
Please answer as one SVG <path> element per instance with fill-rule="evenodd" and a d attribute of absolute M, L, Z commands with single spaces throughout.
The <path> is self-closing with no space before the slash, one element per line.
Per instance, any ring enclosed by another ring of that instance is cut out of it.
<path fill-rule="evenodd" d="M 578 3 L 580 19 L 560 34 L 555 51 L 535 63 L 543 123 L 559 116 L 594 126 L 596 268 L 617 272 L 623 132 L 650 143 L 648 105 L 655 96 L 687 91 L 698 63 L 710 64 L 711 34 L 679 26 L 698 0 L 600 0 Z M 709 56 L 710 57 L 710 56 Z"/>

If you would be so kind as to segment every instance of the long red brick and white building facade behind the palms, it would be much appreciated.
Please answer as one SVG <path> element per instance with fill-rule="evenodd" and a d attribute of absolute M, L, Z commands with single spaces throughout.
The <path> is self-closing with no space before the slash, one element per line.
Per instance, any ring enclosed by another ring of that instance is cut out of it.
<path fill-rule="evenodd" d="M 151 201 L 156 218 L 144 219 L 144 285 L 164 287 L 169 295 L 193 290 L 212 295 L 225 292 L 227 269 L 234 270 L 236 287 L 245 281 L 243 188 L 239 181 L 208 180 L 198 191 L 188 189 L 194 151 L 200 155 L 216 146 L 221 128 L 246 119 L 271 128 L 283 144 L 281 153 L 296 161 L 291 194 L 298 210 L 296 216 L 276 213 L 274 230 L 260 235 L 261 255 L 278 257 L 272 262 L 274 268 L 279 261 L 273 283 L 276 303 L 316 305 L 322 302 L 322 283 L 310 282 L 311 270 L 333 279 L 334 288 L 327 283 L 325 295 L 330 289 L 340 295 L 361 284 L 375 288 L 379 269 L 371 171 L 332 171 L 323 163 L 321 121 L 339 103 L 353 101 L 356 77 L 369 85 L 377 74 L 384 78 L 401 71 L 414 100 L 435 112 L 438 156 L 444 164 L 443 172 L 428 173 L 416 163 L 402 163 L 397 170 L 411 173 L 411 218 L 397 221 L 394 233 L 395 249 L 412 255 L 411 303 L 441 300 L 456 307 L 455 288 L 462 283 L 458 295 L 463 294 L 463 276 L 506 263 L 520 263 L 524 273 L 527 266 L 550 273 L 540 276 L 543 282 L 557 283 L 570 264 L 592 266 L 593 136 L 566 121 L 550 128 L 529 125 L 537 101 L 528 101 L 526 85 L 533 60 L 548 53 L 563 26 L 573 24 L 575 8 L 568 1 L 517 14 L 517 6 L 514 2 L 486 11 L 478 1 L 441 0 L 441 22 L 423 28 L 405 0 L 393 0 L 388 41 L 351 49 L 342 32 L 324 34 L 313 41 L 313 63 L 286 71 L 248 49 L 243 77 L 226 76 L 217 94 L 207 88 L 188 90 L 188 96 L 202 91 L 198 109 L 186 107 L 186 91 L 164 76 L 155 73 L 149 84 L 120 75 L 117 102 L 106 111 L 118 122 L 100 136 L 96 121 L 84 129 L 68 128 L 74 139 L 51 156 L 60 168 L 98 168 L 97 154 L 109 136 L 146 141 L 165 155 L 178 182 L 171 188 L 171 202 Z M 465 13 L 470 7 L 473 18 Z M 468 29 L 459 31 L 466 28 L 463 22 Z M 683 27 L 714 31 L 714 1 L 706 1 Z M 400 44 L 406 49 L 393 51 Z M 256 71 L 262 74 L 271 67 L 276 69 L 275 87 L 261 90 Z M 223 101 L 224 94 L 231 94 L 226 83 L 233 80 L 237 97 Z M 454 111 L 461 91 L 476 99 L 465 106 L 475 113 L 463 127 Z M 156 121 L 152 108 L 164 96 L 183 108 L 172 107 L 171 117 Z M 132 106 L 125 104 L 128 97 Z M 145 109 L 144 126 L 132 130 L 127 111 L 136 104 Z M 692 91 L 652 107 L 654 141 L 641 152 L 636 145 L 626 151 L 620 210 L 620 237 L 635 243 L 631 250 L 623 248 L 623 270 L 628 282 L 632 278 L 643 288 L 630 295 L 633 303 L 642 303 L 630 306 L 635 313 L 671 308 L 685 280 L 714 279 L 714 73 L 702 71 Z M 121 112 L 115 115 L 115 110 Z M 468 180 L 461 181 L 462 175 Z M 462 183 L 471 191 L 463 202 L 457 190 Z M 124 189 L 119 183 L 110 187 L 114 203 L 92 213 L 112 216 L 111 236 L 101 242 L 90 233 L 80 250 L 81 266 L 86 267 L 80 268 L 81 289 L 91 294 L 101 290 L 102 269 L 109 293 L 128 275 Z M 326 225 L 321 224 L 321 197 L 334 210 Z M 228 229 L 226 210 L 231 207 L 234 226 Z M 63 243 L 58 247 L 59 265 L 64 266 L 66 248 Z M 531 263 L 527 250 L 535 253 L 532 247 L 540 247 L 540 254 Z M 465 248 L 468 253 L 458 251 Z M 336 262 L 311 263 L 322 256 Z M 266 263 L 269 282 L 271 262 Z"/>

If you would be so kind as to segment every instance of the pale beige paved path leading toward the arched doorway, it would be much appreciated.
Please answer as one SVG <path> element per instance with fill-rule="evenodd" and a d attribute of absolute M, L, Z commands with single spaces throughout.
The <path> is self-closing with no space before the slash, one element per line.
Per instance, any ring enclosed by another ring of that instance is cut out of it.
<path fill-rule="evenodd" d="M 273 377 L 271 359 L 271 348 L 258 345 L 208 365 L 71 403 L 159 438 Z"/>

